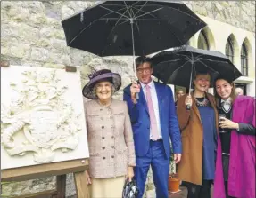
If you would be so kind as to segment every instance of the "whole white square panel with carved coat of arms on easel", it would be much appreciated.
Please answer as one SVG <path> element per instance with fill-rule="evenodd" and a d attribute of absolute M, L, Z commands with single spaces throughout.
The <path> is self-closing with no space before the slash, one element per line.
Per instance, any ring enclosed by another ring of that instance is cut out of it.
<path fill-rule="evenodd" d="M 79 72 L 1 67 L 1 170 L 88 157 Z"/>

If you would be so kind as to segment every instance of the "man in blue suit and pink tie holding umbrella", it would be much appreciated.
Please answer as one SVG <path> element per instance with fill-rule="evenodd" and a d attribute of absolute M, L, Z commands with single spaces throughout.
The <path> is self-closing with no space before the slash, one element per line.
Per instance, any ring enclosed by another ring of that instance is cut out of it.
<path fill-rule="evenodd" d="M 153 82 L 153 67 L 146 57 L 136 59 L 138 82 L 124 89 L 124 100 L 133 128 L 136 149 L 135 178 L 139 188 L 138 197 L 143 197 L 145 180 L 151 165 L 157 198 L 168 198 L 169 139 L 172 142 L 174 159 L 181 158 L 181 138 L 173 94 L 169 86 Z M 136 93 L 139 99 L 136 100 Z"/>

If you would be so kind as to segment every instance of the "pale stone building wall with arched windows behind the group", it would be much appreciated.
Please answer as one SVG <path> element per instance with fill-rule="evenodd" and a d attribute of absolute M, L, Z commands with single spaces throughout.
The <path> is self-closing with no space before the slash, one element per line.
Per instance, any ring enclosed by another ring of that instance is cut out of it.
<path fill-rule="evenodd" d="M 87 51 L 79 51 L 66 46 L 61 21 L 75 12 L 84 10 L 95 2 L 91 1 L 2 1 L 1 2 L 1 60 L 9 60 L 12 65 L 31 67 L 75 66 L 81 71 L 83 86 L 92 69 L 110 67 L 122 76 L 122 87 L 116 98 L 122 99 L 122 89 L 134 76 L 132 57 L 100 58 Z M 255 2 L 254 1 L 184 1 L 202 20 L 209 24 L 205 28 L 210 49 L 225 53 L 227 37 L 234 36 L 237 59 L 243 42 L 246 42 L 249 56 L 249 76 L 243 76 L 240 83 L 248 84 L 248 91 L 255 95 Z M 219 26 L 221 29 L 219 29 Z M 191 38 L 190 44 L 197 47 L 200 32 Z M 253 54 L 253 55 L 252 55 Z M 254 85 L 253 85 L 254 84 Z M 253 88 L 254 90 L 254 88 Z M 30 194 L 53 189 L 55 178 L 38 178 L 24 182 L 14 182 L 2 186 L 2 193 L 12 196 Z M 153 178 L 149 173 L 146 193 L 153 197 Z M 76 194 L 73 178 L 67 177 L 68 197 Z"/>

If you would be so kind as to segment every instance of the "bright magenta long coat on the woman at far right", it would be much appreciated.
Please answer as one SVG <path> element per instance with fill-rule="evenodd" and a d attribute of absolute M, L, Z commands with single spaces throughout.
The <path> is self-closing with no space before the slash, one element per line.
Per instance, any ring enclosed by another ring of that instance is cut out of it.
<path fill-rule="evenodd" d="M 232 121 L 249 123 L 255 127 L 255 99 L 239 96 L 233 105 Z M 241 135 L 233 130 L 230 143 L 228 195 L 238 198 L 255 198 L 255 136 Z M 221 144 L 218 138 L 217 161 L 214 179 L 214 198 L 226 198 L 222 169 Z"/>

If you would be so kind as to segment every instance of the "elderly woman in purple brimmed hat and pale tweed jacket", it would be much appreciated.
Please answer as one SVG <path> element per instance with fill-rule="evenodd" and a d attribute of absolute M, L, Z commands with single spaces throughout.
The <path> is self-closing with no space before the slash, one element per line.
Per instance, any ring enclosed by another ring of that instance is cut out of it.
<path fill-rule="evenodd" d="M 121 86 L 121 77 L 102 69 L 89 76 L 83 95 L 88 147 L 87 181 L 91 197 L 121 197 L 125 178 L 134 177 L 135 148 L 126 102 L 112 99 Z"/>

